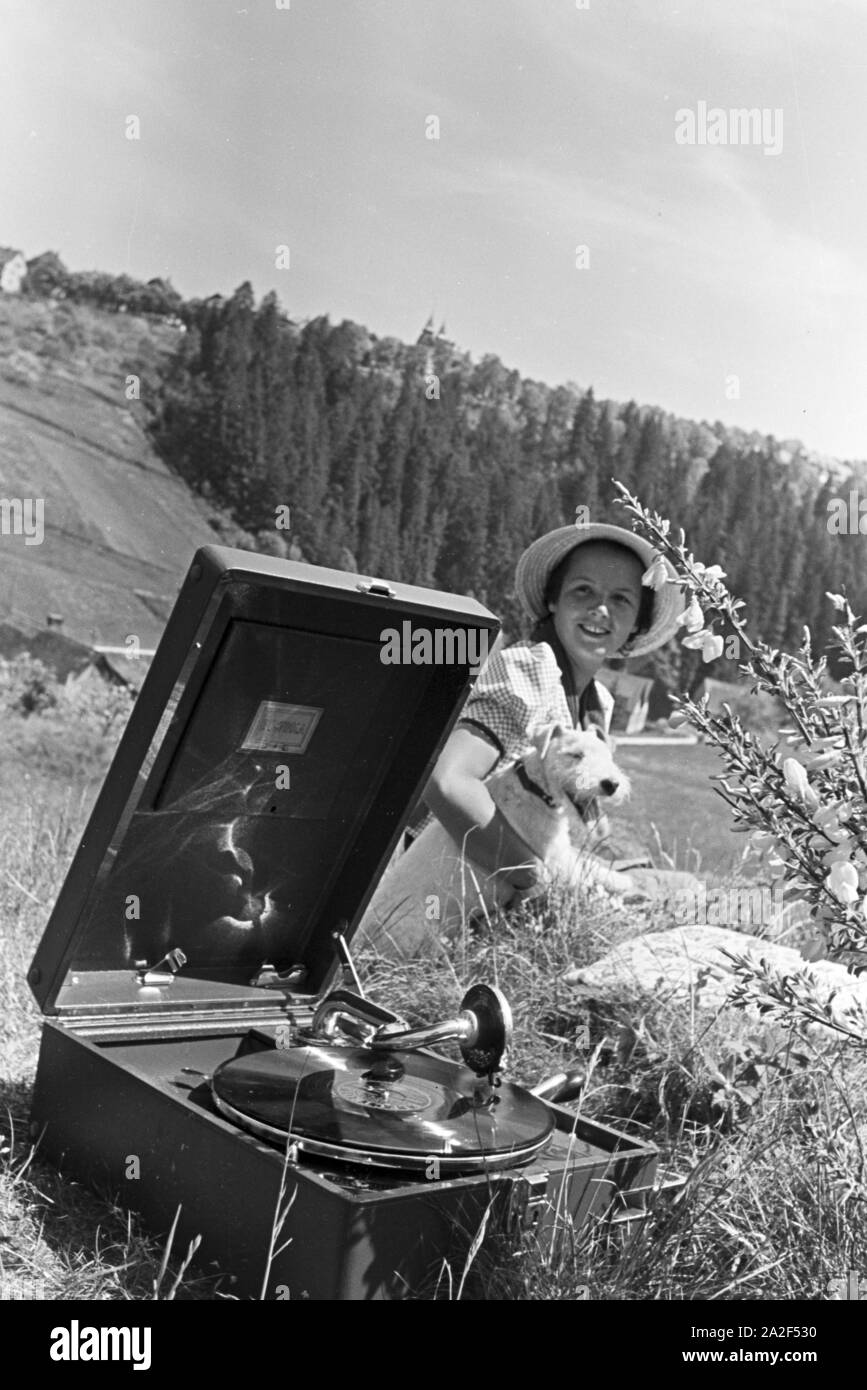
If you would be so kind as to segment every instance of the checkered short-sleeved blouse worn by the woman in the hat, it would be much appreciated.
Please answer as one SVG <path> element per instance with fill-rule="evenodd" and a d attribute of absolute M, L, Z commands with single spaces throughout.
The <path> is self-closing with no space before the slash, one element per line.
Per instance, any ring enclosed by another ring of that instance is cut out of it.
<path fill-rule="evenodd" d="M 500 755 L 490 769 L 495 771 L 503 759 L 517 758 L 543 724 L 559 721 L 565 728 L 599 724 L 607 734 L 613 709 L 614 699 L 604 685 L 591 681 L 572 717 L 553 649 L 547 642 L 524 641 L 488 657 L 456 728 L 481 734 L 493 744 Z M 418 835 L 431 820 L 432 812 L 421 802 L 407 833 Z"/>

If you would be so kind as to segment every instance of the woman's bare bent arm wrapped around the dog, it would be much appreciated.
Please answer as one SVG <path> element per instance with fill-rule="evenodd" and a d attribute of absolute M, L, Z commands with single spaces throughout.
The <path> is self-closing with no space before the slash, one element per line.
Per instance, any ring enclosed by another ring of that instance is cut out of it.
<path fill-rule="evenodd" d="M 496 809 L 484 778 L 497 751 L 468 728 L 456 728 L 439 755 L 424 799 L 452 838 L 488 873 L 509 870 L 515 888 L 536 883 L 535 855 Z M 517 867 L 521 866 L 521 867 Z"/>

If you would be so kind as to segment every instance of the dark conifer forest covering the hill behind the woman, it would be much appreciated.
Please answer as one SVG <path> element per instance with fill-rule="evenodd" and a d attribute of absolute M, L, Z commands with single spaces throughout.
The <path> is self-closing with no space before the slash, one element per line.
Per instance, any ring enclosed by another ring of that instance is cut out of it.
<path fill-rule="evenodd" d="M 684 527 L 697 559 L 722 566 L 773 646 L 796 649 L 804 626 L 814 649 L 828 646 L 827 591 L 867 606 L 867 541 L 839 521 L 843 509 L 859 517 L 860 464 L 532 381 L 493 354 L 474 361 L 432 322 L 403 343 L 349 321 L 295 322 L 249 284 L 183 300 L 164 281 L 71 275 L 51 257 L 31 263 L 31 293 L 182 325 L 149 392 L 150 430 L 167 463 L 233 518 L 224 539 L 468 594 L 517 637 L 520 552 L 578 506 L 622 523 L 617 478 Z M 686 688 L 699 666 L 674 642 L 631 669 Z M 736 662 L 706 673 L 734 680 Z"/>

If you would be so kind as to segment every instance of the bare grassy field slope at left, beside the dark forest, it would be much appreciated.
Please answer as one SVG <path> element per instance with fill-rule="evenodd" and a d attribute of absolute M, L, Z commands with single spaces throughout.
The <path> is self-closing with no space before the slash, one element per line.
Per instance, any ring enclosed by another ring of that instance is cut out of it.
<path fill-rule="evenodd" d="M 0 296 L 0 496 L 44 499 L 44 541 L 0 538 L 0 621 L 153 646 L 213 509 L 156 453 L 144 400 L 179 329 Z M 128 374 L 142 400 L 125 399 Z"/>

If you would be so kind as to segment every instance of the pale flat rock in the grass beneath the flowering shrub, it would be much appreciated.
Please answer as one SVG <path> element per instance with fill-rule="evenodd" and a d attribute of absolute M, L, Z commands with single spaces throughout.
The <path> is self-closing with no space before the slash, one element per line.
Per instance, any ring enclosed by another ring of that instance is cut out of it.
<path fill-rule="evenodd" d="M 806 970 L 823 1001 L 836 991 L 834 1017 L 854 1006 L 866 1011 L 867 1022 L 867 974 L 849 974 L 845 966 L 831 960 L 807 962 L 791 947 L 725 927 L 646 931 L 614 947 L 593 965 L 567 970 L 563 980 L 600 999 L 611 995 L 622 998 L 624 994 L 661 994 L 667 1001 L 692 997 L 700 1008 L 718 1009 L 735 986 L 732 962 L 725 951 L 756 962 L 766 960 L 779 974 Z M 848 1022 L 852 1024 L 850 1019 Z"/>

